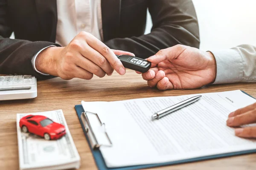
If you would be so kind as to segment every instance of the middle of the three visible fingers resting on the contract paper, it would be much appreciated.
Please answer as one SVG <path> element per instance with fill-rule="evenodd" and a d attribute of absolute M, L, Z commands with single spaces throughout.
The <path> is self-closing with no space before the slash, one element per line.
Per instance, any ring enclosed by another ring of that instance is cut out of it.
<path fill-rule="evenodd" d="M 256 109 L 227 119 L 227 125 L 230 127 L 237 127 L 237 126 L 247 125 L 255 122 L 256 122 Z"/>

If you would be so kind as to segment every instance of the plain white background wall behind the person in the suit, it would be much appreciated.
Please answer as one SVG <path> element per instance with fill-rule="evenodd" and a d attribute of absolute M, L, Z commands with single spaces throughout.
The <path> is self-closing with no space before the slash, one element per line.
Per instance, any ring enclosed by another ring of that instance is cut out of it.
<path fill-rule="evenodd" d="M 244 43 L 256 45 L 256 0 L 193 0 L 193 3 L 202 50 L 231 48 Z M 145 34 L 151 27 L 148 13 Z"/>

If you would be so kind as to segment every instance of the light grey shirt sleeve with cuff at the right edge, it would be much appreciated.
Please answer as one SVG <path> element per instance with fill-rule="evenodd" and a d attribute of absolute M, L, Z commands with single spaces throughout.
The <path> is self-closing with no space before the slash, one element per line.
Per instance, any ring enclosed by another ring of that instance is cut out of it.
<path fill-rule="evenodd" d="M 214 84 L 256 82 L 256 46 L 244 44 L 211 52 L 217 65 Z"/>

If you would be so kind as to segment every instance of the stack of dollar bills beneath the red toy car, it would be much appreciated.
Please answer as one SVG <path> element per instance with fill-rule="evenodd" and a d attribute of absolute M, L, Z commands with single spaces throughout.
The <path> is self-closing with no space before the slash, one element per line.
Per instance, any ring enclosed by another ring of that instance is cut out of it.
<path fill-rule="evenodd" d="M 66 134 L 58 140 L 45 140 L 32 133 L 23 133 L 19 122 L 26 115 L 42 115 L 65 126 Z M 17 114 L 17 139 L 20 170 L 26 169 L 70 169 L 80 167 L 80 156 L 73 142 L 62 110 L 41 113 Z M 64 166 L 65 165 L 65 166 Z M 67 168 L 65 168 L 67 167 Z"/>

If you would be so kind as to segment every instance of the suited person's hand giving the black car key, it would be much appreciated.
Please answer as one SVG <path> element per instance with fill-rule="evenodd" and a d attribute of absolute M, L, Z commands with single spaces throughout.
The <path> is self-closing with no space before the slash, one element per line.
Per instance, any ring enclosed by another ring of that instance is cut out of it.
<path fill-rule="evenodd" d="M 35 68 L 65 80 L 91 79 L 93 75 L 104 77 L 111 75 L 113 70 L 123 75 L 125 68 L 115 54 L 133 55 L 111 50 L 92 34 L 82 31 L 66 47 L 49 47 L 41 51 L 35 60 Z"/>

